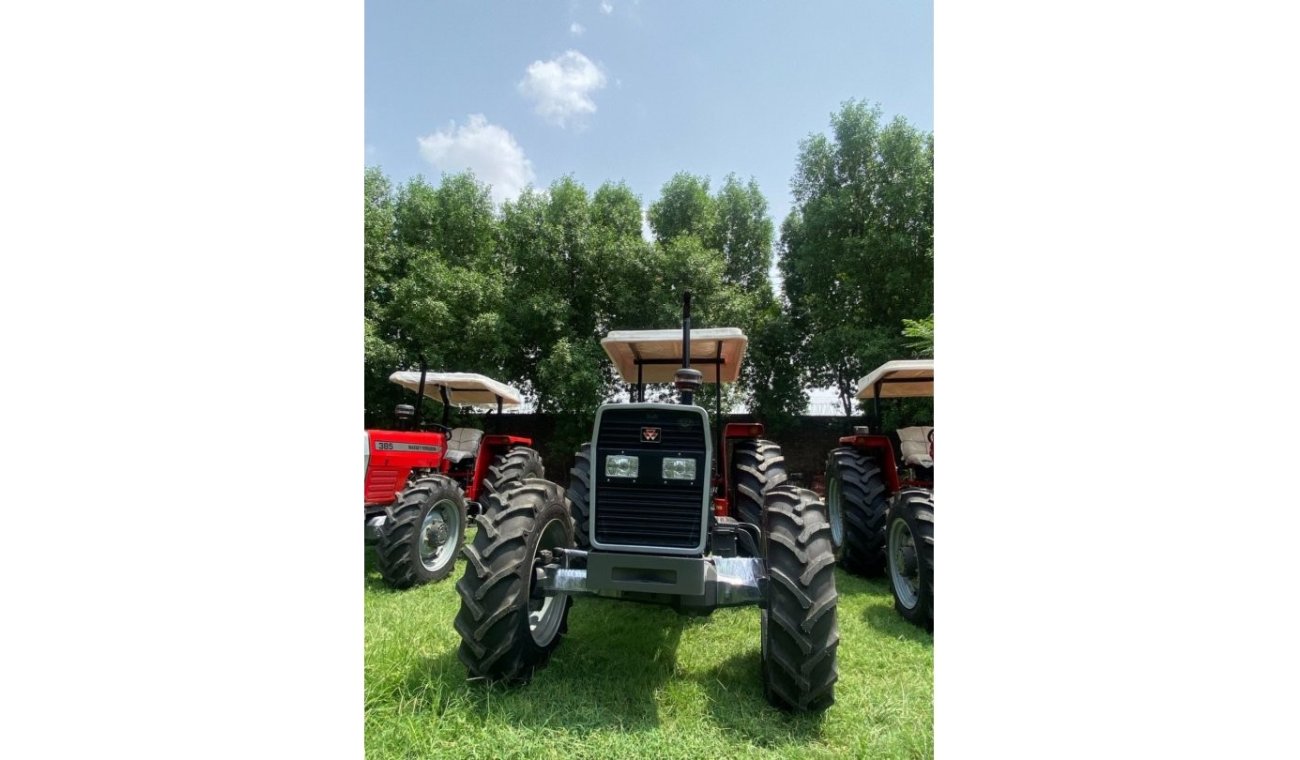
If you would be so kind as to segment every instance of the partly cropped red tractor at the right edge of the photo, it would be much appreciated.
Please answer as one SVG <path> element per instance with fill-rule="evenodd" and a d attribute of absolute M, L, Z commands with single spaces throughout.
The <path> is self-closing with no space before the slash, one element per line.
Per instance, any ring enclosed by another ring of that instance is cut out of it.
<path fill-rule="evenodd" d="M 880 399 L 935 395 L 935 360 L 887 361 L 858 382 L 871 425 L 840 439 L 826 462 L 826 501 L 845 569 L 887 574 L 894 608 L 915 625 L 935 618 L 935 429 L 880 433 Z M 875 430 L 876 433 L 872 433 Z"/>

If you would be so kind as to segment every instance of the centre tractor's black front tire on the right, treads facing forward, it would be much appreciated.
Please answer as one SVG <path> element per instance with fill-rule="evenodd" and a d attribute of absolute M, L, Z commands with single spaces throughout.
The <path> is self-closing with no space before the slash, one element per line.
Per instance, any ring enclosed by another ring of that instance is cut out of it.
<path fill-rule="evenodd" d="M 777 486 L 763 504 L 767 607 L 762 626 L 763 695 L 774 707 L 816 712 L 835 703 L 835 550 L 826 504 L 816 494 Z"/>

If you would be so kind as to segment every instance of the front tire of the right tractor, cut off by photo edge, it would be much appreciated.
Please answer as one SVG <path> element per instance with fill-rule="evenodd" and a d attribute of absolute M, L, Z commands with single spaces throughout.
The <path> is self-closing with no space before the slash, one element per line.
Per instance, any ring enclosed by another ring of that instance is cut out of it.
<path fill-rule="evenodd" d="M 924 629 L 935 626 L 935 494 L 909 490 L 889 511 L 889 590 L 894 609 Z"/>

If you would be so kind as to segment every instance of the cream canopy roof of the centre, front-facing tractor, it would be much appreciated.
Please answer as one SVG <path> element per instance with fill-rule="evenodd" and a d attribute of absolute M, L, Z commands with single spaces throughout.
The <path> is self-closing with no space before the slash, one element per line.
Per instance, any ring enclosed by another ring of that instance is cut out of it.
<path fill-rule="evenodd" d="M 671 383 L 673 373 L 681 368 L 681 329 L 676 330 L 614 330 L 601 340 L 614 366 L 624 382 L 637 382 L 637 360 L 641 360 L 641 379 L 647 383 Z M 745 356 L 749 338 L 740 327 L 703 327 L 690 331 L 690 369 L 698 369 L 706 383 L 733 383 L 740 377 L 740 362 Z M 722 365 L 703 364 L 722 357 Z M 654 362 L 654 364 L 649 364 Z"/>

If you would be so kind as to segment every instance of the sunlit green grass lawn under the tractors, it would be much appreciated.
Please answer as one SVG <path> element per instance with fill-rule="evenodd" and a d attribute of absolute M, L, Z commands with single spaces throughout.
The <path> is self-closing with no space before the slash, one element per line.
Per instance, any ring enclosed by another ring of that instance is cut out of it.
<path fill-rule="evenodd" d="M 930 757 L 933 639 L 884 581 L 836 573 L 840 681 L 822 716 L 768 707 L 758 608 L 710 617 L 580 598 L 532 683 L 471 683 L 456 659 L 455 582 L 389 590 L 368 552 L 365 752 L 370 757 Z"/>

